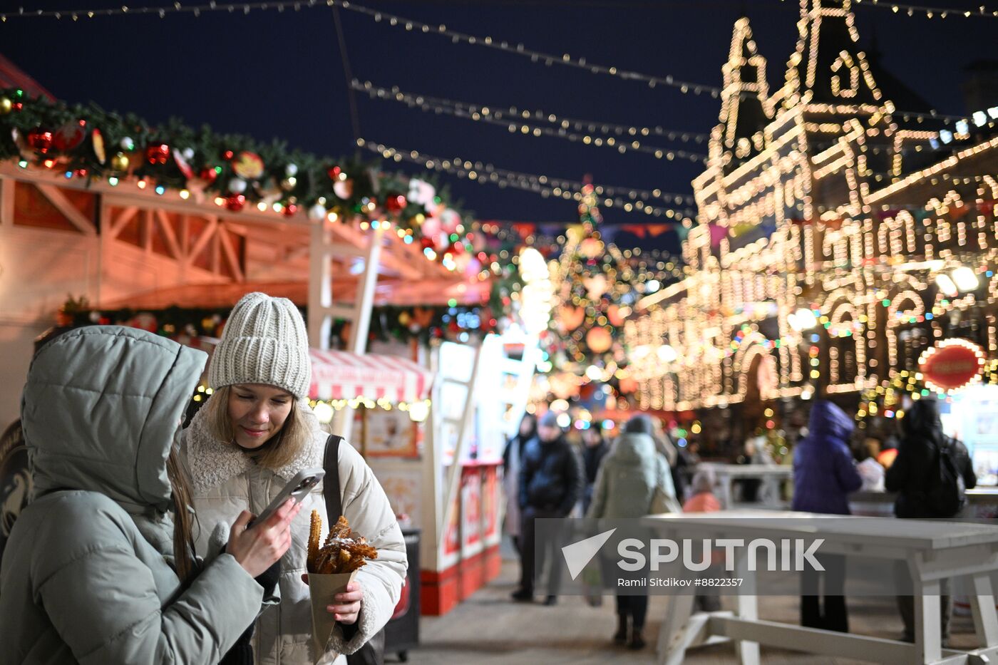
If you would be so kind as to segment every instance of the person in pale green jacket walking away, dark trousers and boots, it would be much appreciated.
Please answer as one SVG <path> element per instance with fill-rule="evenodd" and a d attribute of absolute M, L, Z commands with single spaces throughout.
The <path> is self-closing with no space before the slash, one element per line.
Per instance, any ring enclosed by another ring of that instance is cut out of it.
<path fill-rule="evenodd" d="M 623 433 L 603 458 L 587 518 L 644 517 L 652 512 L 656 490 L 676 498 L 669 462 L 657 451 L 655 439 L 652 438 L 653 430 L 652 418 L 644 413 L 627 421 Z M 615 574 L 622 577 L 626 573 L 616 571 Z M 647 577 L 648 571 L 640 570 L 632 574 Z M 634 593 L 643 588 L 646 587 L 636 586 L 629 589 L 629 593 L 617 594 L 617 633 L 614 641 L 627 643 L 631 649 L 645 646 L 642 631 L 648 615 L 648 595 Z"/>

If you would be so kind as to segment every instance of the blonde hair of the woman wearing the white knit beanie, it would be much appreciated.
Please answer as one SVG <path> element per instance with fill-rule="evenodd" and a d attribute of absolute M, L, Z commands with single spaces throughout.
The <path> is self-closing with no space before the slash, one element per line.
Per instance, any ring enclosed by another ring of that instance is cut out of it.
<path fill-rule="evenodd" d="M 223 385 L 215 390 L 205 404 L 206 424 L 213 438 L 224 445 L 236 446 L 236 431 L 229 417 L 229 398 L 232 394 L 231 385 Z M 274 434 L 274 440 L 267 441 L 258 449 L 243 450 L 260 466 L 277 469 L 286 465 L 309 444 L 311 428 L 305 420 L 305 413 L 298 400 L 291 396 L 291 410 L 284 419 L 284 424 Z"/>

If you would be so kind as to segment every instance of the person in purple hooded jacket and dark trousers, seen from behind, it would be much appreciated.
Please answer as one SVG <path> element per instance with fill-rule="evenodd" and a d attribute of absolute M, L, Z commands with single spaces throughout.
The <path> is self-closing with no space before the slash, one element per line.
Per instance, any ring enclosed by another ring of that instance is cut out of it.
<path fill-rule="evenodd" d="M 848 495 L 863 484 L 849 452 L 854 428 L 852 418 L 832 402 L 818 399 L 811 406 L 807 436 L 793 451 L 794 510 L 849 514 Z M 829 554 L 818 561 L 824 573 L 804 570 L 801 574 L 800 625 L 847 633 L 849 621 L 842 595 L 845 559 Z M 824 594 L 819 597 L 822 578 Z"/>

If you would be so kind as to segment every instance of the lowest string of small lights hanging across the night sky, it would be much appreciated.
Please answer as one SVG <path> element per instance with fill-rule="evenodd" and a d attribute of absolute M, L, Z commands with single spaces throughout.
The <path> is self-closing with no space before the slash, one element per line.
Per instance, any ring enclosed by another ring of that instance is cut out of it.
<path fill-rule="evenodd" d="M 419 164 L 426 169 L 440 171 L 456 175 L 460 178 L 477 181 L 479 184 L 486 183 L 497 187 L 512 187 L 527 192 L 534 192 L 548 198 L 551 196 L 560 197 L 566 200 L 581 201 L 582 188 L 584 183 L 571 180 L 560 180 L 549 178 L 548 176 L 538 176 L 515 171 L 498 169 L 491 164 L 482 162 L 470 162 L 460 158 L 453 160 L 441 159 L 420 153 L 418 151 L 402 151 L 397 148 L 375 144 L 365 139 L 357 139 L 357 146 L 380 154 L 384 159 L 391 159 L 396 162 L 409 162 Z M 606 207 L 621 208 L 626 213 L 644 213 L 651 217 L 666 217 L 669 219 L 682 220 L 685 215 L 693 215 L 694 211 L 689 209 L 661 208 L 645 204 L 645 200 L 654 197 L 654 192 L 647 190 L 627 190 L 626 188 L 602 187 L 602 194 L 607 198 L 602 200 Z M 626 193 L 630 201 L 625 201 L 617 193 Z M 689 219 L 689 218 L 686 218 Z"/>

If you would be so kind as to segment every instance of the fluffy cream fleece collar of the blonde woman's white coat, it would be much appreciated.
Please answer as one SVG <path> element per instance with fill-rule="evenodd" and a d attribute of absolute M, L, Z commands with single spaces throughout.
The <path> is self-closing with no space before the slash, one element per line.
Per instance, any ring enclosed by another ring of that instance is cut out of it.
<path fill-rule="evenodd" d="M 214 399 L 215 395 L 209 397 Z M 230 478 L 249 471 L 253 462 L 250 457 L 235 445 L 221 441 L 208 430 L 208 402 L 202 406 L 190 426 L 184 431 L 187 448 L 188 471 L 195 492 L 203 494 L 218 487 Z M 309 444 L 298 451 L 287 464 L 272 469 L 274 473 L 290 480 L 294 474 L 303 468 L 321 467 L 325 456 L 325 441 L 328 434 L 322 431 L 318 418 L 308 406 L 307 401 L 299 401 L 296 408 L 304 410 L 305 422 L 311 430 Z"/>

